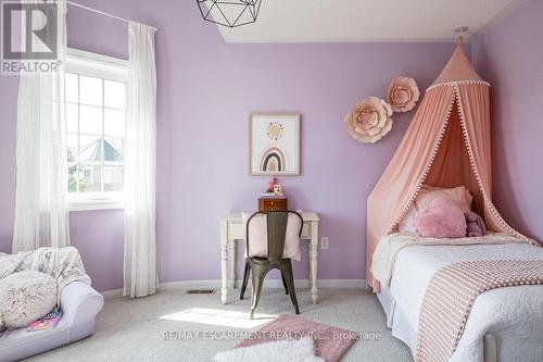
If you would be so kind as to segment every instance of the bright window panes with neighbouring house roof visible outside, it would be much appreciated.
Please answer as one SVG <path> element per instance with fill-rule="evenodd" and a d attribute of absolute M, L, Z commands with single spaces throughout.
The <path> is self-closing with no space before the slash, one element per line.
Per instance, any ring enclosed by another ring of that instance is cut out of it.
<path fill-rule="evenodd" d="M 65 75 L 68 192 L 123 191 L 126 83 Z"/>

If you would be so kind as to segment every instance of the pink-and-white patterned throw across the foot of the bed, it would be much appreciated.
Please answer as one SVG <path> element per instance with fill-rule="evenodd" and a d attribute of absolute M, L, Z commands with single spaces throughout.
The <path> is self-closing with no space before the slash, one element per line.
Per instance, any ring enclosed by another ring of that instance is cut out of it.
<path fill-rule="evenodd" d="M 417 362 L 449 361 L 480 294 L 495 288 L 543 284 L 543 261 L 488 260 L 447 265 L 426 289 L 417 336 Z"/>

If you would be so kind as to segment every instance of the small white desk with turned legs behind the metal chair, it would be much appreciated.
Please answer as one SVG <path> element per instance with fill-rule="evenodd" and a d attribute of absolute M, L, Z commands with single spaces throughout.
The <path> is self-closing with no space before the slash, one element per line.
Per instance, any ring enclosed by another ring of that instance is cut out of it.
<path fill-rule="evenodd" d="M 317 260 L 318 260 L 318 215 L 313 211 L 303 211 L 304 225 L 302 228 L 302 240 L 308 240 L 310 247 L 310 279 L 313 304 L 317 303 Z M 245 230 L 241 212 L 231 213 L 220 219 L 220 273 L 222 283 L 220 300 L 223 304 L 227 301 L 227 278 L 229 274 L 229 287 L 236 288 L 236 240 L 244 240 Z"/>

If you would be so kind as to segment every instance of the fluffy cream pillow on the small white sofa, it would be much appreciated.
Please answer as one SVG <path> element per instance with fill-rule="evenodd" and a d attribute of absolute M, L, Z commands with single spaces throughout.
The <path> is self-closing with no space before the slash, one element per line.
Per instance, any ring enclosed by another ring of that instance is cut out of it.
<path fill-rule="evenodd" d="M 56 280 L 49 274 L 24 271 L 0 279 L 1 329 L 26 327 L 56 304 Z"/>

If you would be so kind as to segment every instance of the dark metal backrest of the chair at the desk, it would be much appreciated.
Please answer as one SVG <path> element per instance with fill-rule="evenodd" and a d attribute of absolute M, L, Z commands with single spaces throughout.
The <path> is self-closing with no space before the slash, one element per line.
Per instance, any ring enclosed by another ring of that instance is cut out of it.
<path fill-rule="evenodd" d="M 292 210 L 277 210 L 277 211 L 257 211 L 253 213 L 248 222 L 245 229 L 245 242 L 247 242 L 247 255 L 251 258 L 251 252 L 249 250 L 249 226 L 251 220 L 256 215 L 266 215 L 267 224 L 267 260 L 272 263 L 278 262 L 282 259 L 282 253 L 285 250 L 285 240 L 287 238 L 287 225 L 289 223 L 289 215 L 294 214 L 300 219 L 300 230 L 298 236 L 302 235 L 303 219 L 300 213 Z"/>

